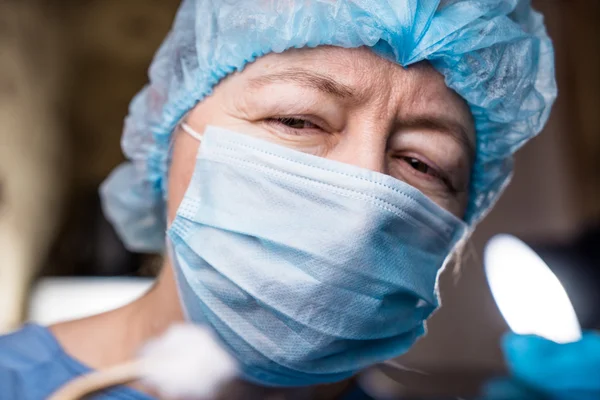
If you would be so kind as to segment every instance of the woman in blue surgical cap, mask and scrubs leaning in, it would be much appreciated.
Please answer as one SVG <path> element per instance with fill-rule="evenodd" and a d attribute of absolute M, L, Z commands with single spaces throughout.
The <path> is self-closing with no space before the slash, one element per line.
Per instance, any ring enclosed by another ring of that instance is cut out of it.
<path fill-rule="evenodd" d="M 341 398 L 425 332 L 439 271 L 556 95 L 528 1 L 188 0 L 150 78 L 102 193 L 131 249 L 167 244 L 164 268 L 124 308 L 2 339 L 23 398 L 183 320 L 247 381 Z"/>

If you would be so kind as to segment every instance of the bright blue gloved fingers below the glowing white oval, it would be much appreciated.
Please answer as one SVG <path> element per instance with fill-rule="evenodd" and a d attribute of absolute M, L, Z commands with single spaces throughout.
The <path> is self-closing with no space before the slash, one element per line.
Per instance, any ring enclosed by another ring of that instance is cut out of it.
<path fill-rule="evenodd" d="M 600 399 L 600 335 L 558 344 L 538 336 L 508 334 L 503 350 L 514 379 L 492 382 L 486 399 Z"/>

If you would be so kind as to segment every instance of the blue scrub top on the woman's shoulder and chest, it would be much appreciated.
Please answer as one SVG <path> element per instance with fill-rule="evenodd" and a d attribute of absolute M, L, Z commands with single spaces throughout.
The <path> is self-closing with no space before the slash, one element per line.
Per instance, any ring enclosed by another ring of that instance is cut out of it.
<path fill-rule="evenodd" d="M 41 400 L 66 382 L 91 369 L 69 356 L 45 327 L 27 324 L 0 336 L 0 400 Z M 154 400 L 144 393 L 120 386 L 88 397 L 93 400 Z M 346 400 L 368 400 L 361 390 Z"/>

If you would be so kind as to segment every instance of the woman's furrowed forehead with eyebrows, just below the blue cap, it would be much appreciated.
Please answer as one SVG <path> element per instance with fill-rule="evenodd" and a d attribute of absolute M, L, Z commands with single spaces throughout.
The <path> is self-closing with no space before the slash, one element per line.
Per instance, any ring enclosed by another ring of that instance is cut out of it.
<path fill-rule="evenodd" d="M 241 78 L 243 92 L 259 96 L 264 91 L 253 89 L 269 84 L 311 86 L 330 96 L 346 97 L 348 103 L 396 105 L 400 120 L 412 120 L 415 115 L 455 120 L 464 128 L 469 147 L 474 146 L 473 118 L 467 103 L 426 61 L 405 68 L 367 47 L 320 46 L 270 53 L 236 75 Z"/>

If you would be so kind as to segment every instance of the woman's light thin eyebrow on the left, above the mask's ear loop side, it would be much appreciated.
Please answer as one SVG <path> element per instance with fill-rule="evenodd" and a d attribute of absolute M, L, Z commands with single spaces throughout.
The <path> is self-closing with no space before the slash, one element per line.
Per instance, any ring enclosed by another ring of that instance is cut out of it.
<path fill-rule="evenodd" d="M 300 68 L 286 69 L 249 80 L 249 86 L 253 88 L 259 88 L 270 83 L 295 83 L 341 99 L 353 98 L 356 95 L 353 88 L 343 83 L 337 82 L 328 76 Z"/>

